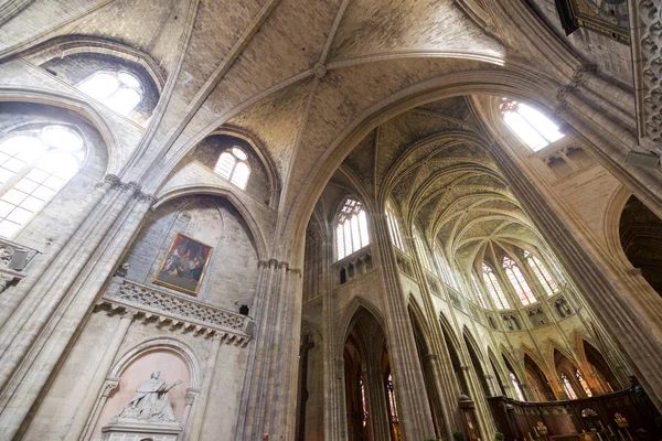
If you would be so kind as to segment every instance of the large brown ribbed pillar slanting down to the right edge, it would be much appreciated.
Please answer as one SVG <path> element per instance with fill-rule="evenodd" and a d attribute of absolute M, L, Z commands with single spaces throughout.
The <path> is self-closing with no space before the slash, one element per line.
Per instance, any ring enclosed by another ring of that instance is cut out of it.
<path fill-rule="evenodd" d="M 655 313 L 660 299 L 654 299 L 643 311 L 633 301 L 637 299 L 630 299 L 632 293 L 619 292 L 611 282 L 617 277 L 610 277 L 610 268 L 594 259 L 577 241 L 509 153 L 498 144 L 492 146 L 491 152 L 527 215 L 552 245 L 565 272 L 573 278 L 598 319 L 609 326 L 612 340 L 633 362 L 642 386 L 655 406 L 662 408 L 662 358 L 656 356 L 662 352 L 658 338 L 662 333 L 662 321 Z"/>

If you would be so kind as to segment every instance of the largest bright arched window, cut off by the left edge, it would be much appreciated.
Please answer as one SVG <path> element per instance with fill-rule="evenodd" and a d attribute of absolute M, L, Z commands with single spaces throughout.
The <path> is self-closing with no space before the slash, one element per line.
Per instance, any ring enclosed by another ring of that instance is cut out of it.
<path fill-rule="evenodd" d="M 0 236 L 15 237 L 78 172 L 81 135 L 46 126 L 0 142 Z"/>

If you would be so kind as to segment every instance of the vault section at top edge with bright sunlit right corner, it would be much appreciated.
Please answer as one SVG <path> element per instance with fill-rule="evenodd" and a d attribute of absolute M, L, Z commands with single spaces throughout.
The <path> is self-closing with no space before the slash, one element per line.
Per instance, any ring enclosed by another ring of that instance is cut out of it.
<path fill-rule="evenodd" d="M 351 1 L 331 50 L 331 60 L 396 52 L 503 54 L 453 0 Z"/>

